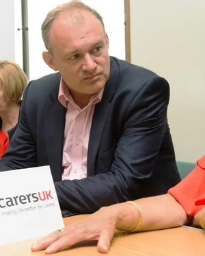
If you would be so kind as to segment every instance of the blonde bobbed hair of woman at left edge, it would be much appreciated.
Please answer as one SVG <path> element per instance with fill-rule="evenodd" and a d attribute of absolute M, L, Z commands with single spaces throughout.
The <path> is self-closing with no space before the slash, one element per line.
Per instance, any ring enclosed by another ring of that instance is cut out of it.
<path fill-rule="evenodd" d="M 18 104 L 28 82 L 24 71 L 15 62 L 0 60 L 0 80 L 5 100 Z"/>

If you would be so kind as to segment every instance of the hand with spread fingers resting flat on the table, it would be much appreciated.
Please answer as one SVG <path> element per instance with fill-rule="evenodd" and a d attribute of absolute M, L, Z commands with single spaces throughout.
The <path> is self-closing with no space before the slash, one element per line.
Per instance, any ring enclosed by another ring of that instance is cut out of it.
<path fill-rule="evenodd" d="M 115 213 L 102 207 L 91 216 L 66 226 L 64 231 L 55 231 L 42 238 L 31 246 L 31 250 L 46 249 L 45 252 L 50 254 L 84 240 L 98 240 L 98 251 L 108 253 L 117 219 Z"/>

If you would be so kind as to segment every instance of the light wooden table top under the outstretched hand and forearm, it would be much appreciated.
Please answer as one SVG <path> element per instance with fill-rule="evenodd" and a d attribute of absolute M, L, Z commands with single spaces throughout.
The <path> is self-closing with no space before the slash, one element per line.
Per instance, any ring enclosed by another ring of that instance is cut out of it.
<path fill-rule="evenodd" d="M 69 224 L 85 216 L 73 216 L 64 219 Z M 1 256 L 45 256 L 44 251 L 33 253 L 29 240 L 0 246 Z M 179 227 L 161 231 L 133 233 L 123 235 L 116 232 L 111 244 L 109 256 L 201 256 L 204 255 L 205 232 L 200 229 Z M 96 242 L 83 242 L 81 247 L 73 247 L 66 251 L 55 253 L 56 256 L 102 255 L 98 253 Z"/>

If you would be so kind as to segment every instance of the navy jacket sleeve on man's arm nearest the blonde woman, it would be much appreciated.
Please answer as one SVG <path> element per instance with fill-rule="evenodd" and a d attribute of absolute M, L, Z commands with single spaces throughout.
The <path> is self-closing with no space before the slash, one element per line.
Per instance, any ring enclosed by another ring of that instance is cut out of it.
<path fill-rule="evenodd" d="M 29 109 L 29 107 L 26 106 L 26 95 L 29 89 L 29 84 L 27 85 L 23 94 L 18 125 L 13 128 L 15 138 L 12 139 L 13 134 L 9 133 L 10 138 L 12 138 L 10 140 L 8 150 L 5 152 L 5 154 L 3 154 L 0 160 L 0 172 L 37 166 L 36 144 L 31 137 L 31 132 L 27 125 L 25 113 L 27 109 Z"/>

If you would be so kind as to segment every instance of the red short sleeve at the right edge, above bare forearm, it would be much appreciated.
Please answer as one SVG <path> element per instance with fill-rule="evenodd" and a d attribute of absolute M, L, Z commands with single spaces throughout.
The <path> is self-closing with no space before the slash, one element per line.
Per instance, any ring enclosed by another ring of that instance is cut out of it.
<path fill-rule="evenodd" d="M 193 216 L 205 207 L 205 156 L 178 185 L 168 191 L 182 205 L 187 215 Z"/>

